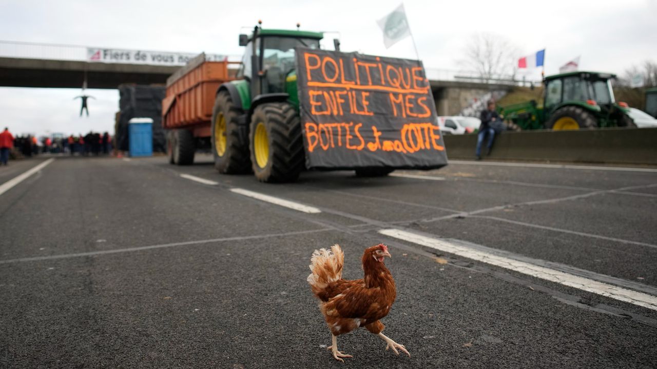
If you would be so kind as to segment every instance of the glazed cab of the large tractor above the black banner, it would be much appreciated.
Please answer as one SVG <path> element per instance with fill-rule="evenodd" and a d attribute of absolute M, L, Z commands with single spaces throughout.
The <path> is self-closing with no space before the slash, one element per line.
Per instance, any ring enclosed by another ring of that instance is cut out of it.
<path fill-rule="evenodd" d="M 319 49 L 322 38 L 321 32 L 263 30 L 256 26 L 250 37 L 240 35 L 240 46 L 246 46 L 246 51 L 238 78 L 249 81 L 250 95 L 254 99 L 260 95 L 287 93 L 296 102 L 294 48 Z"/>

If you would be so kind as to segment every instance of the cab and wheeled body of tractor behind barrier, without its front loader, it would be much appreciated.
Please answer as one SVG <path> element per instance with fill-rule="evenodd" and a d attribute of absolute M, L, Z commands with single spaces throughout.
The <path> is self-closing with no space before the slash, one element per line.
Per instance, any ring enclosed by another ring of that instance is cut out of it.
<path fill-rule="evenodd" d="M 546 128 L 555 130 L 627 127 L 627 104 L 616 104 L 614 74 L 570 72 L 545 77 L 543 114 Z"/>

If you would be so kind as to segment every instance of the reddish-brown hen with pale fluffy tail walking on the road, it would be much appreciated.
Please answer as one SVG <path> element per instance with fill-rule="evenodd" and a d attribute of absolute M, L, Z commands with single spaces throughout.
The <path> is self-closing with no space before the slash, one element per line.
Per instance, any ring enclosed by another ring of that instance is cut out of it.
<path fill-rule="evenodd" d="M 385 257 L 392 256 L 388 252 L 388 246 L 384 244 L 365 249 L 364 278 L 344 280 L 344 253 L 340 246 L 313 252 L 310 259 L 312 272 L 307 281 L 315 296 L 321 300 L 319 309 L 324 315 L 332 339 L 332 344 L 327 349 L 332 351 L 336 360 L 344 362 L 342 358 L 351 357 L 338 351 L 337 337 L 361 326 L 384 339 L 387 343 L 386 350 L 392 349 L 399 355 L 399 349 L 411 356 L 406 347 L 381 333 L 384 325 L 380 319 L 390 313 L 390 307 L 397 295 L 392 274 L 383 263 Z"/>

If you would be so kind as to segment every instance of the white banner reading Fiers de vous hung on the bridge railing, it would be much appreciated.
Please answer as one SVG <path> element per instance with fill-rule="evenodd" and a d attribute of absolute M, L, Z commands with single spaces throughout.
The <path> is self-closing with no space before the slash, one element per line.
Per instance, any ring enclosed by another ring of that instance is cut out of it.
<path fill-rule="evenodd" d="M 198 56 L 198 54 L 168 53 L 166 51 L 98 49 L 87 47 L 87 60 L 89 62 L 183 66 L 195 56 Z M 206 54 L 206 60 L 210 62 L 220 62 L 222 60 L 228 60 L 228 56 Z"/>

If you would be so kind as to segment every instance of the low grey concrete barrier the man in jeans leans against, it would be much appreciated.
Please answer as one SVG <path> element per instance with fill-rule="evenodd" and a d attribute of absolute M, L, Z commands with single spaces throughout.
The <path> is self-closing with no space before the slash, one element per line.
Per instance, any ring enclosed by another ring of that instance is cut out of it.
<path fill-rule="evenodd" d="M 444 139 L 447 158 L 474 159 L 477 135 L 445 135 Z M 657 165 L 657 128 L 506 131 L 495 137 L 491 156 L 486 158 Z"/>

